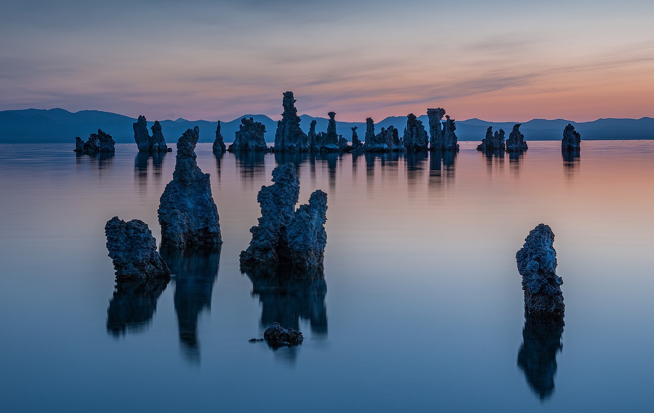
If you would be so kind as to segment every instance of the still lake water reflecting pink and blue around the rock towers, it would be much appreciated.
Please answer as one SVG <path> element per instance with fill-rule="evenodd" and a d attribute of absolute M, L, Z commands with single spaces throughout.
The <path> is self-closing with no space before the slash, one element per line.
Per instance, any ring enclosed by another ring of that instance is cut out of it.
<path fill-rule="evenodd" d="M 295 159 L 300 203 L 328 193 L 324 279 L 274 288 L 239 252 L 292 159 L 199 144 L 222 251 L 169 256 L 169 284 L 116 296 L 105 222 L 142 219 L 159 241 L 175 154 L 0 145 L 0 410 L 651 411 L 654 141 L 585 141 L 572 160 L 560 142 L 519 159 L 476 145 Z M 515 252 L 540 222 L 562 335 L 525 326 Z M 276 320 L 304 343 L 248 342 Z"/>

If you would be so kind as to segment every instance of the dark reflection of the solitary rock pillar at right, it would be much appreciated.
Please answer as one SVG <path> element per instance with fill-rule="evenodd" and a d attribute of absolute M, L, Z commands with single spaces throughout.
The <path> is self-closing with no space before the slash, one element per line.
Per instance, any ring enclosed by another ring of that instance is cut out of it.
<path fill-rule="evenodd" d="M 554 394 L 557 353 L 563 348 L 563 317 L 525 314 L 523 344 L 518 351 L 518 367 L 529 387 L 541 400 Z"/>

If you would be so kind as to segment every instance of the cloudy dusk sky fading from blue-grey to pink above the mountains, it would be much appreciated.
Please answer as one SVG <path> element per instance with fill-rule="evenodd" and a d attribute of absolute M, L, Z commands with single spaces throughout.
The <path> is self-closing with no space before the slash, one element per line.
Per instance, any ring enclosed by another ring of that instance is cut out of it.
<path fill-rule="evenodd" d="M 0 0 L 0 110 L 654 117 L 654 2 Z"/>

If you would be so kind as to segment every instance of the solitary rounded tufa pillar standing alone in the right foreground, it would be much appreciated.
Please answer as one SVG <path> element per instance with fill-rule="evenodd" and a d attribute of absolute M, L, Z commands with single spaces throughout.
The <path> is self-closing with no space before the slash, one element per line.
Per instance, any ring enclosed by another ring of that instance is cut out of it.
<path fill-rule="evenodd" d="M 525 309 L 530 315 L 560 315 L 565 310 L 561 284 L 556 274 L 557 251 L 554 234 L 545 224 L 538 224 L 525 238 L 525 245 L 515 254 L 518 271 L 523 276 Z"/>

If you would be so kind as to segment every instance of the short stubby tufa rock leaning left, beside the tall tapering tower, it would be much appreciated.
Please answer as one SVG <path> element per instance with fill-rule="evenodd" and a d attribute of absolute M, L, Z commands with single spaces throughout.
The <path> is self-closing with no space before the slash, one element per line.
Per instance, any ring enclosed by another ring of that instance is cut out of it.
<path fill-rule="evenodd" d="M 105 225 L 105 235 L 116 279 L 170 279 L 170 270 L 145 222 L 113 217 Z"/>

